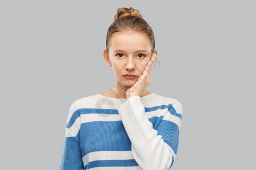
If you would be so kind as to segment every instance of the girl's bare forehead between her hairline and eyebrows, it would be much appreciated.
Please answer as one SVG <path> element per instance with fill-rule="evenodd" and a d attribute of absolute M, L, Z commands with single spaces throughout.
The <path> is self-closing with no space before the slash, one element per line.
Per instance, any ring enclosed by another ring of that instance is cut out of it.
<path fill-rule="evenodd" d="M 115 32 L 111 38 L 109 50 L 122 49 L 127 52 L 135 50 L 151 50 L 150 39 L 140 32 L 122 31 Z"/>

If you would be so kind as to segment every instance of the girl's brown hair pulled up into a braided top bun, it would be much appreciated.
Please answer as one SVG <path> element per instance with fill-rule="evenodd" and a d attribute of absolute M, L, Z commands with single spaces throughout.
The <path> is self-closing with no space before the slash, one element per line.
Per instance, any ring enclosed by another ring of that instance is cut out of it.
<path fill-rule="evenodd" d="M 109 26 L 106 36 L 106 51 L 109 53 L 110 39 L 115 32 L 121 31 L 137 31 L 146 35 L 151 41 L 151 54 L 155 50 L 155 36 L 152 28 L 146 20 L 143 19 L 141 13 L 130 8 L 118 8 L 117 14 L 114 16 L 114 22 Z"/>

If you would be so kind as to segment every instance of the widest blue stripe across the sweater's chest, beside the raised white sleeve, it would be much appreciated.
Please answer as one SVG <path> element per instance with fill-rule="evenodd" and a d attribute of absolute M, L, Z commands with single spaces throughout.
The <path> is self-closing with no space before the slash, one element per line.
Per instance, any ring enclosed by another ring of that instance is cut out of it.
<path fill-rule="evenodd" d="M 122 121 L 94 121 L 81 124 L 82 156 L 95 151 L 131 151 L 131 141 Z"/>

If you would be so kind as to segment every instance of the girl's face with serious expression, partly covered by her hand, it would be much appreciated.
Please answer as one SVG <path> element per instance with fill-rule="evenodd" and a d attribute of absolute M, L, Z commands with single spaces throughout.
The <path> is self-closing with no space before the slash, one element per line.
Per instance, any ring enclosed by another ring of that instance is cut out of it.
<path fill-rule="evenodd" d="M 108 59 L 105 57 L 106 52 L 104 53 L 106 62 L 111 63 L 113 67 L 115 84 L 121 83 L 123 86 L 131 87 L 142 75 L 151 59 L 151 42 L 140 32 L 115 32 L 110 39 Z M 125 74 L 137 76 L 128 79 L 124 76 Z"/>

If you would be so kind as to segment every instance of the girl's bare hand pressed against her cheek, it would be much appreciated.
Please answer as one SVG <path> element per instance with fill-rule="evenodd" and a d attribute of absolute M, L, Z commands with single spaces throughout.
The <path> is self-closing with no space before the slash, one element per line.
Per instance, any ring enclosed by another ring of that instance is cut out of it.
<path fill-rule="evenodd" d="M 133 84 L 128 90 L 126 91 L 126 98 L 129 99 L 131 96 L 142 96 L 143 92 L 151 83 L 151 74 L 153 69 L 153 63 L 155 62 L 156 54 L 153 54 L 153 57 L 147 63 L 143 73 L 139 76 L 137 82 Z"/>

